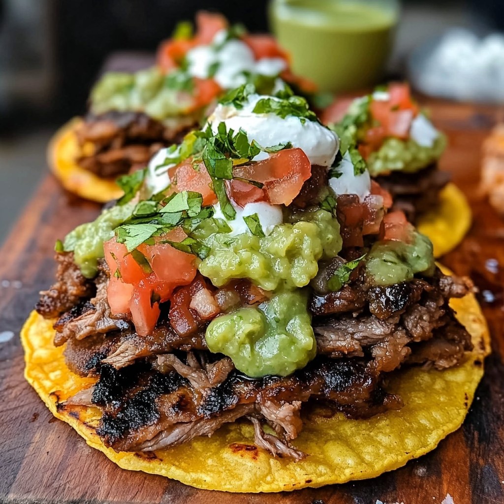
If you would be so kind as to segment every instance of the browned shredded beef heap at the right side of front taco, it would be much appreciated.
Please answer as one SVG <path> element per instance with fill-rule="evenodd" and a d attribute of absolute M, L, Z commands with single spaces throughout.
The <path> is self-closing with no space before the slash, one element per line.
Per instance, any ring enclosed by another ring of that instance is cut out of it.
<path fill-rule="evenodd" d="M 345 355 L 363 356 L 368 349 L 376 369 L 392 371 L 408 357 L 410 363 L 429 360 L 424 357 L 428 355 L 426 350 L 422 357 L 410 357 L 413 348 L 415 351 L 438 348 L 434 343 L 422 347 L 412 347 L 410 343 L 453 333 L 458 346 L 445 345 L 443 356 L 448 362 L 447 352 L 453 350 L 452 360 L 458 362 L 461 354 L 472 348 L 471 337 L 455 319 L 448 301 L 455 295 L 465 295 L 470 287 L 468 281 L 445 277 L 438 272 L 432 284 L 415 280 L 409 285 L 372 288 L 367 293 L 368 297 L 371 293 L 369 314 L 354 317 L 347 313 L 323 318 L 314 324 L 318 351 L 339 358 Z M 439 359 L 434 357 L 432 360 Z"/>

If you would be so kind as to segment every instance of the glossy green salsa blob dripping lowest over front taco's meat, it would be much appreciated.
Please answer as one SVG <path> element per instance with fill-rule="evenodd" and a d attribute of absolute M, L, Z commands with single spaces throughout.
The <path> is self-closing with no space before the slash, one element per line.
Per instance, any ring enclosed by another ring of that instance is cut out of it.
<path fill-rule="evenodd" d="M 302 290 L 279 292 L 258 308 L 240 308 L 215 318 L 205 340 L 229 356 L 247 376 L 286 376 L 316 354 L 317 342 Z"/>

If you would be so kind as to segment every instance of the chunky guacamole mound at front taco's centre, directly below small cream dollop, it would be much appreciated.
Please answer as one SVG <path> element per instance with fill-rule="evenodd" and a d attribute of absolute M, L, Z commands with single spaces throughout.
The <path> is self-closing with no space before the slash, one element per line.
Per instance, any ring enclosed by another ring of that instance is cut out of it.
<path fill-rule="evenodd" d="M 220 287 L 232 278 L 249 278 L 265 290 L 280 285 L 304 287 L 317 275 L 318 261 L 335 257 L 341 250 L 338 221 L 325 210 L 311 221 L 275 226 L 269 236 L 213 234 L 206 241 L 208 257 L 200 273 Z"/>

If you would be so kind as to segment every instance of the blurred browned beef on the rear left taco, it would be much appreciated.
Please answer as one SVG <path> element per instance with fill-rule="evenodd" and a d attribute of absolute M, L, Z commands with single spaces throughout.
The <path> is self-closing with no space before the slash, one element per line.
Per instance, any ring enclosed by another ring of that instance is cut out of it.
<path fill-rule="evenodd" d="M 84 154 L 77 162 L 101 177 L 115 177 L 147 166 L 161 148 L 182 141 L 185 133 L 196 126 L 191 118 L 177 121 L 174 127 L 142 112 L 110 111 L 88 114 L 77 130 L 81 146 L 93 144 L 92 154 Z"/>

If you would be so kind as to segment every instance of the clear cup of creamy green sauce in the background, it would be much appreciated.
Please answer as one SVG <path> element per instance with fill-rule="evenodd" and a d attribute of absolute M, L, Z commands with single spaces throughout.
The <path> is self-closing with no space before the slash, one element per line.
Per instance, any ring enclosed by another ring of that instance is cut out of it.
<path fill-rule="evenodd" d="M 395 0 L 272 0 L 269 15 L 293 72 L 338 92 L 380 79 L 399 7 Z"/>

